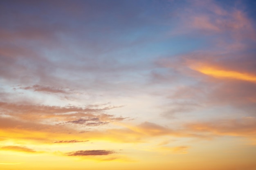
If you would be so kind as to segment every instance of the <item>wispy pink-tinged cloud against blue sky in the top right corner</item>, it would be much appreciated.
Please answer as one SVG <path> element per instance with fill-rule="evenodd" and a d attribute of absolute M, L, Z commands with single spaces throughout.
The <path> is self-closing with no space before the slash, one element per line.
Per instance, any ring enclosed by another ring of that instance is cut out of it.
<path fill-rule="evenodd" d="M 216 1 L 193 1 L 187 5 L 184 13 L 180 13 L 181 30 L 190 33 L 198 31 L 201 35 L 223 35 L 233 40 L 256 40 L 252 20 L 242 6 L 225 8 Z"/>

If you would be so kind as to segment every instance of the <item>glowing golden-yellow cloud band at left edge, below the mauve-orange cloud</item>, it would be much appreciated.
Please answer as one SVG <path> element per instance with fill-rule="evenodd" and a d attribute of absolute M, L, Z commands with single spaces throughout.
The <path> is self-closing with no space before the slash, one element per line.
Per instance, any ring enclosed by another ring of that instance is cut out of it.
<path fill-rule="evenodd" d="M 79 131 L 62 125 L 42 124 L 31 121 L 21 121 L 11 117 L 0 117 L 0 133 L 2 140 L 33 141 L 36 143 L 72 140 L 83 141 L 84 138 L 76 135 Z"/>

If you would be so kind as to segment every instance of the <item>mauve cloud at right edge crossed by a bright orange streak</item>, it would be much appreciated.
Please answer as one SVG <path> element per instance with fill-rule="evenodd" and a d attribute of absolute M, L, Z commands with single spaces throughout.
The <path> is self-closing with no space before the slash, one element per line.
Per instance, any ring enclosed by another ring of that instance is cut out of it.
<path fill-rule="evenodd" d="M 202 55 L 211 56 L 204 58 Z M 187 72 L 194 77 L 204 95 L 194 95 L 198 101 L 213 105 L 231 105 L 255 115 L 256 62 L 250 53 L 195 53 L 183 57 Z M 191 91 L 193 88 L 191 89 Z M 192 93 L 192 92 L 191 92 Z M 192 98 L 192 96 L 191 96 Z"/>

